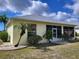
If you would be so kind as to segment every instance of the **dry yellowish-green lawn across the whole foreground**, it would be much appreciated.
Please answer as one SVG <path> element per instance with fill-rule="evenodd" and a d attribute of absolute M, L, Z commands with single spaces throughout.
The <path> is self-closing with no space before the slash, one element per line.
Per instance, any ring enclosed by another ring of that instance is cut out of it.
<path fill-rule="evenodd" d="M 0 51 L 0 59 L 79 59 L 79 42 L 49 46 L 46 51 L 34 47 Z"/>

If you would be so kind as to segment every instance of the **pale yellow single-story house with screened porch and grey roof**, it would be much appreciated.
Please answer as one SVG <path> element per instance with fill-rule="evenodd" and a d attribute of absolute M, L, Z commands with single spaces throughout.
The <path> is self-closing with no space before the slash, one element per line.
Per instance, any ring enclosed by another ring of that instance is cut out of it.
<path fill-rule="evenodd" d="M 8 22 L 7 31 L 12 45 L 15 45 L 18 42 L 21 32 L 19 28 L 15 28 L 15 25 L 20 26 L 22 23 L 26 25 L 30 24 L 32 27 L 32 31 L 29 32 L 26 29 L 26 33 L 21 38 L 20 44 L 23 45 L 26 44 L 29 33 L 32 33 L 33 35 L 37 34 L 42 37 L 48 29 L 52 31 L 51 39 L 53 39 L 53 41 L 61 40 L 62 34 L 64 33 L 70 33 L 72 38 L 75 37 L 74 28 L 76 25 L 74 23 L 55 21 L 52 20 L 52 18 L 41 16 L 21 16 L 11 18 Z"/>

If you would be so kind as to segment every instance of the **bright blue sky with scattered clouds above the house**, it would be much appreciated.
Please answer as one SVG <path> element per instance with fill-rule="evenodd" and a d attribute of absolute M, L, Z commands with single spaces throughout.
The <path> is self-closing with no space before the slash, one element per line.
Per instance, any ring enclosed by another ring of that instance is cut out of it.
<path fill-rule="evenodd" d="M 0 15 L 40 15 L 57 21 L 79 22 L 79 0 L 0 0 Z M 3 24 L 0 23 L 0 30 Z"/>

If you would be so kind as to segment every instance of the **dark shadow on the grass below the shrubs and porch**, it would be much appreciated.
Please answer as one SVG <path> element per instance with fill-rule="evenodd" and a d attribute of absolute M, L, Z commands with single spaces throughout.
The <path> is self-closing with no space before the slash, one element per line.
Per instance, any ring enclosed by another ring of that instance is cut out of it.
<path fill-rule="evenodd" d="M 79 42 L 79 39 L 67 40 L 66 42 L 67 43 L 76 43 L 76 42 Z M 40 43 L 40 44 L 36 44 L 36 45 L 30 45 L 30 46 L 27 46 L 27 47 L 33 47 L 32 49 L 41 49 L 43 52 L 47 52 L 47 51 L 51 51 L 48 48 L 49 46 L 58 46 L 58 45 L 64 45 L 64 44 L 59 44 L 59 43 Z"/>

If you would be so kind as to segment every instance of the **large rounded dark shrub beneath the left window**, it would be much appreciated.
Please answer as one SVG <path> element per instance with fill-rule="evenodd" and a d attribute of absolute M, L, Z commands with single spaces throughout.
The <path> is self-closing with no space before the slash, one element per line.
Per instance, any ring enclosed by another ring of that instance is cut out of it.
<path fill-rule="evenodd" d="M 29 45 L 37 45 L 40 40 L 42 40 L 41 36 L 33 35 L 28 38 L 27 42 Z"/>

